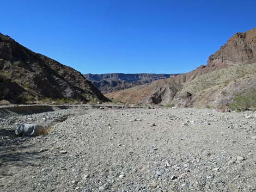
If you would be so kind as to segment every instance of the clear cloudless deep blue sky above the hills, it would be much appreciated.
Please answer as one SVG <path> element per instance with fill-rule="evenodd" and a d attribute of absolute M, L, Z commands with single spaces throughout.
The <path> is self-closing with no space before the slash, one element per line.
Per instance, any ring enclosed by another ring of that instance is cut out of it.
<path fill-rule="evenodd" d="M 82 73 L 183 73 L 256 27 L 256 1 L 1 1 L 0 32 Z"/>

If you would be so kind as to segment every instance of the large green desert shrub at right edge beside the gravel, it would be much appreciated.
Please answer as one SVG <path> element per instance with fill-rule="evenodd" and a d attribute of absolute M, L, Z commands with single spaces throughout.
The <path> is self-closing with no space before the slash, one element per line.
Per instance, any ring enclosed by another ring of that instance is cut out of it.
<path fill-rule="evenodd" d="M 230 109 L 236 111 L 256 110 L 256 89 L 246 94 L 235 96 L 234 102 L 229 104 Z"/>

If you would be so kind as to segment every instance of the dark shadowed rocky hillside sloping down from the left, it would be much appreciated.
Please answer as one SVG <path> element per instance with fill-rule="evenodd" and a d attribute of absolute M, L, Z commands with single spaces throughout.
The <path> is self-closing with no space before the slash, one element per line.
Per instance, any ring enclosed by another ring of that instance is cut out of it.
<path fill-rule="evenodd" d="M 1 33 L 0 90 L 0 100 L 11 103 L 29 103 L 46 97 L 107 101 L 80 72 L 34 53 Z"/>

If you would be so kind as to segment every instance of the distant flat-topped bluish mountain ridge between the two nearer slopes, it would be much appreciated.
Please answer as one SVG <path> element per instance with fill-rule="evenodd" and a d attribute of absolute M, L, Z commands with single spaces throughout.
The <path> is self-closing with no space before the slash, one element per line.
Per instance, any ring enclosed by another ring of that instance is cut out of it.
<path fill-rule="evenodd" d="M 154 80 L 169 78 L 169 74 L 154 73 L 107 73 L 107 74 L 86 74 L 88 80 L 96 86 L 102 93 L 114 92 L 132 88 L 133 86 L 149 84 Z"/>

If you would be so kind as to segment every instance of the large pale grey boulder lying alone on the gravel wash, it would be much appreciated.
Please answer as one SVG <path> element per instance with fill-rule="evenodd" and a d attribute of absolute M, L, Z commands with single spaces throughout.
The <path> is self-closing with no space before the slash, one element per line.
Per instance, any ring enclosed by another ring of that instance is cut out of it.
<path fill-rule="evenodd" d="M 15 131 L 15 134 L 20 137 L 35 137 L 38 135 L 46 135 L 47 133 L 46 127 L 27 123 L 21 123 Z"/>

